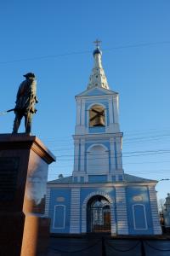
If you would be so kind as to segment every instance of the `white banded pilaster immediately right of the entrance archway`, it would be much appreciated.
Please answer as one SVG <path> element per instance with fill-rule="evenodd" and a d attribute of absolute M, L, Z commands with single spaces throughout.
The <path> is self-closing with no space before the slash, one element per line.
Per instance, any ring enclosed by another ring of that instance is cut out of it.
<path fill-rule="evenodd" d="M 128 235 L 127 200 L 125 188 L 116 188 L 116 219 L 118 235 Z"/>

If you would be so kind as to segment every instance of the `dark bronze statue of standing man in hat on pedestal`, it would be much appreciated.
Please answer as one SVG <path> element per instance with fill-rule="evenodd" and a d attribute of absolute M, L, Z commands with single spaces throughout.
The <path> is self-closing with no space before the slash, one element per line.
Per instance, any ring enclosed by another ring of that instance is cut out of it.
<path fill-rule="evenodd" d="M 37 81 L 34 73 L 26 73 L 24 77 L 26 80 L 20 84 L 16 96 L 13 133 L 18 132 L 20 121 L 25 117 L 26 133 L 30 134 L 32 116 L 37 111 L 35 108 L 35 104 L 37 103 Z"/>

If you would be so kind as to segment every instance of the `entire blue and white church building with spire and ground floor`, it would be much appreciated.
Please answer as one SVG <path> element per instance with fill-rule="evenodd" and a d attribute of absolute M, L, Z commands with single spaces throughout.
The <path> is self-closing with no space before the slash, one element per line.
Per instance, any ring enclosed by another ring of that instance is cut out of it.
<path fill-rule="evenodd" d="M 118 97 L 107 82 L 97 42 L 88 87 L 76 96 L 72 176 L 47 184 L 51 233 L 161 234 L 157 181 L 122 168 Z"/>

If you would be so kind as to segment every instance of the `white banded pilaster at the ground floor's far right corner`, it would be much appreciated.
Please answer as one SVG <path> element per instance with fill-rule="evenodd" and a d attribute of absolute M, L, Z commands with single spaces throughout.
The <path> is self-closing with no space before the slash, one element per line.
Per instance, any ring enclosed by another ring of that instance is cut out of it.
<path fill-rule="evenodd" d="M 150 209 L 151 209 L 154 235 L 161 235 L 161 225 L 159 221 L 159 214 L 158 214 L 158 207 L 157 207 L 156 189 L 153 186 L 149 187 L 149 193 L 150 193 Z"/>

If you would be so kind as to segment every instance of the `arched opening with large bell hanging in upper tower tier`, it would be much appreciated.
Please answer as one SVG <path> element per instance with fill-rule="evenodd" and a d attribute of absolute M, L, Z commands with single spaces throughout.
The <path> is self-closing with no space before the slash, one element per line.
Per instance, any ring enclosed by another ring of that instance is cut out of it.
<path fill-rule="evenodd" d="M 89 127 L 105 126 L 105 108 L 94 105 L 89 110 Z"/>

